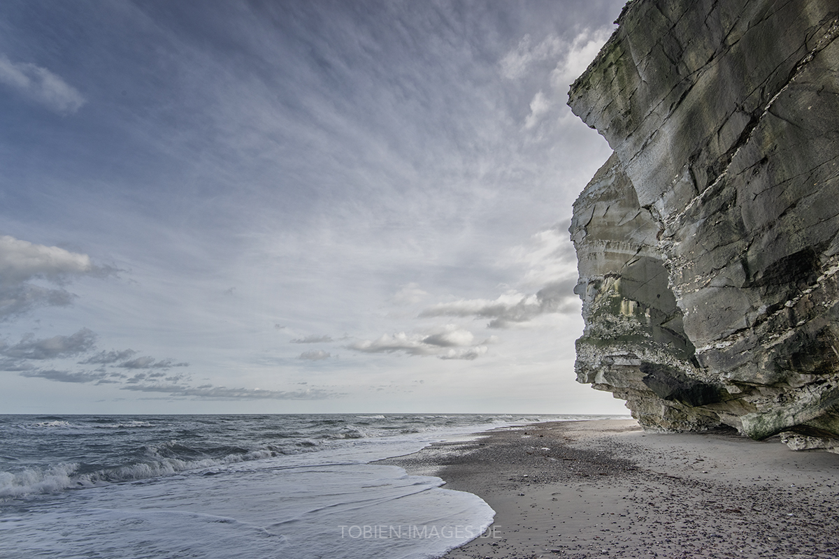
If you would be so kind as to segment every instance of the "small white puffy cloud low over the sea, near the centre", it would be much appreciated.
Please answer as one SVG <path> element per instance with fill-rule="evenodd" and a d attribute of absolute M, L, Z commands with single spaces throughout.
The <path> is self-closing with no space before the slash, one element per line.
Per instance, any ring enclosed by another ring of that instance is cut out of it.
<path fill-rule="evenodd" d="M 459 329 L 453 324 L 425 334 L 383 334 L 378 339 L 364 339 L 347 348 L 369 354 L 404 353 L 406 355 L 435 355 L 440 359 L 475 359 L 486 353 L 485 346 L 473 346 L 472 332 Z M 466 347 L 466 349 L 462 349 Z M 479 349 L 482 348 L 482 349 Z M 470 353 L 470 350 L 474 350 Z M 464 357 L 463 355 L 474 355 Z"/>

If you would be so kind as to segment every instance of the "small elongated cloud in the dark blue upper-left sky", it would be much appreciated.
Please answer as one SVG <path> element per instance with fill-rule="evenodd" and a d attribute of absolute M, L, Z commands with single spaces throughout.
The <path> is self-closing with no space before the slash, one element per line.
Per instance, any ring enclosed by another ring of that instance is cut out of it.
<path fill-rule="evenodd" d="M 0 84 L 60 115 L 73 114 L 86 102 L 75 87 L 50 70 L 26 62 L 12 62 L 5 54 L 0 54 Z"/>

